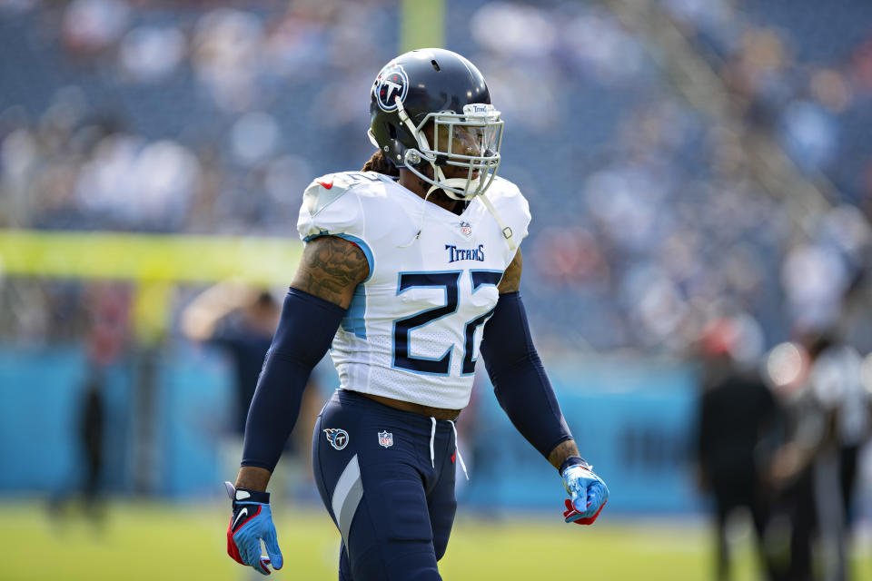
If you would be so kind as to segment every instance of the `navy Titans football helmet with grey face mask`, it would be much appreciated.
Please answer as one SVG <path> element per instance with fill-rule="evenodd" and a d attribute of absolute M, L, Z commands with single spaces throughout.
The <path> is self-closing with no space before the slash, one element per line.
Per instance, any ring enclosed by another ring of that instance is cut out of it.
<path fill-rule="evenodd" d="M 469 200 L 488 189 L 500 167 L 500 112 L 484 77 L 460 54 L 425 48 L 385 64 L 372 84 L 370 116 L 372 144 L 430 183 L 430 192 Z M 421 171 L 426 163 L 432 177 Z"/>

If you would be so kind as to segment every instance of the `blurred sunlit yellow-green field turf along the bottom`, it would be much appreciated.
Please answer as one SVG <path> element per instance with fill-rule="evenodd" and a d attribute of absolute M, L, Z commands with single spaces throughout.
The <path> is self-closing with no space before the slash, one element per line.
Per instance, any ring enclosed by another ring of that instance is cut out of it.
<path fill-rule="evenodd" d="M 276 579 L 336 578 L 339 535 L 314 507 L 280 505 L 285 559 Z M 102 527 L 75 507 L 49 518 L 37 503 L 0 505 L 0 579 L 252 579 L 226 556 L 223 505 L 113 504 Z M 542 517 L 486 521 L 461 517 L 442 577 L 494 581 L 584 578 L 608 581 L 702 581 L 711 578 L 710 535 L 701 524 L 644 524 L 607 515 L 594 527 Z M 752 580 L 748 540 L 738 542 L 734 579 Z M 570 571 L 576 569 L 577 573 Z M 872 563 L 855 564 L 857 580 Z M 251 571 L 253 573 L 253 571 Z M 256 575 L 256 574 L 255 574 Z"/>

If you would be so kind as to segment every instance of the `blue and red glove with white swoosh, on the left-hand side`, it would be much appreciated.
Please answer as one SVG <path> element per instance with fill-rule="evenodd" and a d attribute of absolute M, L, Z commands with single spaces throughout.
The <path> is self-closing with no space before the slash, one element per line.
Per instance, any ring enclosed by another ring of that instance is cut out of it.
<path fill-rule="evenodd" d="M 248 488 L 233 488 L 224 482 L 227 494 L 233 500 L 233 515 L 227 526 L 227 554 L 238 563 L 252 566 L 258 573 L 269 575 L 269 565 L 278 571 L 282 568 L 282 551 L 275 536 L 270 510 L 270 493 Z M 266 556 L 261 555 L 261 541 L 266 546 Z"/>

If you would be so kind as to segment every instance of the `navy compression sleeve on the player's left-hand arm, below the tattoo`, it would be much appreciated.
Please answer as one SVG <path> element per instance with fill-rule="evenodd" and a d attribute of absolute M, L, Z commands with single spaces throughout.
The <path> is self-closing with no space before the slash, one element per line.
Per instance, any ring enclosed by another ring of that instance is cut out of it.
<path fill-rule="evenodd" d="M 328 300 L 288 291 L 248 409 L 243 466 L 275 468 L 300 414 L 309 374 L 330 349 L 344 314 L 345 309 Z"/>

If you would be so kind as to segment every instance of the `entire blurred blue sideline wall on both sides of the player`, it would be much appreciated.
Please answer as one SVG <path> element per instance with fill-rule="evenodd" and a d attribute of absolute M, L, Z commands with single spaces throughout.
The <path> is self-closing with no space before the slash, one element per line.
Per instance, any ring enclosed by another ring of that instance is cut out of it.
<path fill-rule="evenodd" d="M 142 359 L 132 356 L 106 370 L 105 487 L 179 499 L 214 496 L 216 482 L 227 478 L 221 448 L 232 440 L 231 369 L 220 351 L 187 343 L 164 349 L 156 361 L 154 413 L 146 429 L 142 414 L 134 413 L 143 405 L 135 390 Z M 602 359 L 549 362 L 548 369 L 582 454 L 609 482 L 609 511 L 699 508 L 689 466 L 693 369 Z M 326 397 L 335 374 L 329 366 L 319 370 Z M 76 347 L 0 348 L 0 489 L 63 497 L 79 486 L 76 429 L 88 373 Z M 554 510 L 563 494 L 560 478 L 511 427 L 487 379 L 478 383 L 458 422 L 471 475 L 466 482 L 458 474 L 459 500 L 472 507 Z M 150 439 L 145 452 L 144 434 Z"/>

